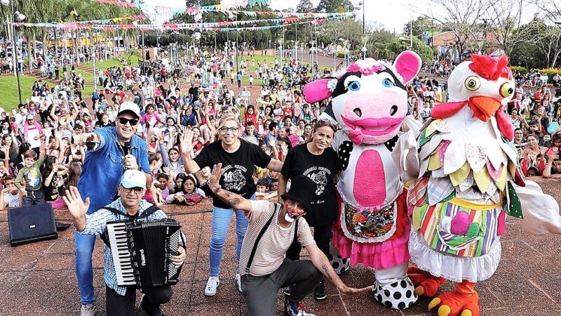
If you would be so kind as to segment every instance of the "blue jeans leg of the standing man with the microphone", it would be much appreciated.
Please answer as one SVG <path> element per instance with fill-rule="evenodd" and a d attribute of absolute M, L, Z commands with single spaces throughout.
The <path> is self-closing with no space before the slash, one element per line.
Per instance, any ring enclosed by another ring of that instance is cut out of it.
<path fill-rule="evenodd" d="M 81 235 L 74 232 L 76 240 L 76 279 L 80 289 L 80 299 L 83 305 L 95 301 L 93 291 L 92 254 L 97 235 Z"/>

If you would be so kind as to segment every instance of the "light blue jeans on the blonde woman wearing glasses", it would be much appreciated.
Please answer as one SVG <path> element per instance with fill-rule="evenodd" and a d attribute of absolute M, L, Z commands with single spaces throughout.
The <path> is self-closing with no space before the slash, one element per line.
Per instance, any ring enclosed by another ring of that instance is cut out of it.
<path fill-rule="evenodd" d="M 255 197 L 252 197 L 255 199 Z M 236 235 L 238 242 L 236 244 L 236 272 L 239 268 L 241 243 L 245 231 L 248 230 L 249 220 L 240 209 L 221 209 L 212 207 L 212 237 L 210 239 L 210 276 L 217 277 L 222 262 L 222 254 L 224 254 L 224 242 L 228 235 L 228 228 L 232 216 L 236 212 Z"/>

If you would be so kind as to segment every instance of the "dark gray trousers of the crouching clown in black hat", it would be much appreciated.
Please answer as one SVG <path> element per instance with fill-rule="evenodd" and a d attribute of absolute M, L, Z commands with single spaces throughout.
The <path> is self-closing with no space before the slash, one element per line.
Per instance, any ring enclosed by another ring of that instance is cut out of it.
<path fill-rule="evenodd" d="M 275 315 L 275 303 L 278 289 L 292 287 L 290 301 L 302 301 L 320 282 L 323 275 L 309 260 L 291 261 L 285 259 L 283 264 L 270 275 L 241 277 L 242 292 L 250 315 Z"/>

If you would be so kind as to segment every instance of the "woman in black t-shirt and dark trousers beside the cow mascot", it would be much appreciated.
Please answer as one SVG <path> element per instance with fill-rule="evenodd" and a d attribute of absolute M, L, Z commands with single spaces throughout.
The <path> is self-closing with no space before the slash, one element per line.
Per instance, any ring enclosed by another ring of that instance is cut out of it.
<path fill-rule="evenodd" d="M 278 202 L 286 192 L 288 180 L 304 175 L 316 183 L 316 195 L 309 197 L 312 209 L 304 215 L 313 230 L 313 239 L 325 256 L 329 256 L 331 224 L 337 217 L 337 199 L 335 197 L 334 176 L 337 168 L 337 153 L 330 147 L 337 129 L 328 121 L 318 121 L 313 126 L 311 140 L 297 145 L 288 151 L 283 169 L 278 176 Z M 298 260 L 302 245 L 295 242 L 286 252 L 290 260 Z M 327 294 L 323 281 L 313 291 L 318 300 Z"/>

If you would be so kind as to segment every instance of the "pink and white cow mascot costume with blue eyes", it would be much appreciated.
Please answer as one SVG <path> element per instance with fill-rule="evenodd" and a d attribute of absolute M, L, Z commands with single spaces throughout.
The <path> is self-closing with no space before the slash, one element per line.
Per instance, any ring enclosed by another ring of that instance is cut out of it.
<path fill-rule="evenodd" d="M 417 301 L 407 277 L 406 191 L 391 152 L 400 128 L 418 133 L 421 127 L 407 117 L 405 88 L 420 68 L 419 55 L 405 51 L 393 65 L 358 60 L 335 78 L 304 88 L 309 103 L 332 98 L 320 119 L 335 120 L 341 127 L 332 142 L 340 168 L 332 245 L 351 265 L 375 269 L 374 299 L 395 309 Z"/>

